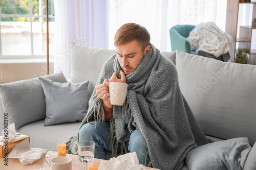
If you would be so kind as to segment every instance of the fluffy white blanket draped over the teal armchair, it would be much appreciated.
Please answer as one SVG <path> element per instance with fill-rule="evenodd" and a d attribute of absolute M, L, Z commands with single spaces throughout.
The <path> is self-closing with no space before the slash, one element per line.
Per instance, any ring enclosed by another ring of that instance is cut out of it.
<path fill-rule="evenodd" d="M 215 22 L 200 23 L 187 37 L 191 51 L 203 51 L 220 57 L 233 51 L 232 37 L 216 26 Z"/>

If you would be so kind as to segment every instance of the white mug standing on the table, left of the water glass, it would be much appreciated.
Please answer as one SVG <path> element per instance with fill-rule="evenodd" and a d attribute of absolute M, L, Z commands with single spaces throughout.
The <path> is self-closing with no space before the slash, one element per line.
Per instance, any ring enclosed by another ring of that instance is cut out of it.
<path fill-rule="evenodd" d="M 59 156 L 51 159 L 51 170 L 72 170 L 72 159 L 66 156 Z"/>

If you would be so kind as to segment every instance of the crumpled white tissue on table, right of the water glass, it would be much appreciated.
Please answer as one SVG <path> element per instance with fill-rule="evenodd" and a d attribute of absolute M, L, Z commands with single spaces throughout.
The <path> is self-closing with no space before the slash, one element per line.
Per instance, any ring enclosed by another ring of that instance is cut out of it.
<path fill-rule="evenodd" d="M 111 158 L 109 161 L 102 160 L 99 164 L 99 170 L 144 170 L 144 165 L 139 164 L 136 152 L 127 153 L 118 157 Z"/>

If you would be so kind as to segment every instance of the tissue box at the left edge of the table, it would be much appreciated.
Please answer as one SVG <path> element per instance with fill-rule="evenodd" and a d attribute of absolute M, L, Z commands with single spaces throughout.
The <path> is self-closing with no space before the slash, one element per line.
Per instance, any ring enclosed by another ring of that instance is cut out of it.
<path fill-rule="evenodd" d="M 8 155 L 12 151 L 12 149 L 18 143 L 22 142 L 26 138 L 29 138 L 29 136 L 20 135 L 20 136 L 16 137 L 15 139 L 12 139 L 10 142 L 0 142 L 0 157 L 4 158 L 6 155 Z M 6 144 L 7 144 L 7 146 L 6 146 Z"/>

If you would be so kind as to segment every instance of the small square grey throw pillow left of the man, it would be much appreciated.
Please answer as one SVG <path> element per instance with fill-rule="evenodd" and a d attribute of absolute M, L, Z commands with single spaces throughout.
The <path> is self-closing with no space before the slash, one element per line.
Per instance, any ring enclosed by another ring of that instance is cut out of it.
<path fill-rule="evenodd" d="M 44 126 L 82 121 L 87 114 L 89 81 L 57 83 L 39 78 L 46 96 Z"/>

